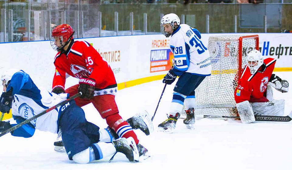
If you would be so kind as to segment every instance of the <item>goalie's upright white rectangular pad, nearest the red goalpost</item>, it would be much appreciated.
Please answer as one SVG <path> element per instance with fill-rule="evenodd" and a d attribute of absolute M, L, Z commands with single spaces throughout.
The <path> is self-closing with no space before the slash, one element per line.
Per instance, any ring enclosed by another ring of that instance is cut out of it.
<path fill-rule="evenodd" d="M 252 123 L 255 121 L 255 116 L 249 101 L 245 100 L 236 104 L 236 108 L 242 123 Z"/>

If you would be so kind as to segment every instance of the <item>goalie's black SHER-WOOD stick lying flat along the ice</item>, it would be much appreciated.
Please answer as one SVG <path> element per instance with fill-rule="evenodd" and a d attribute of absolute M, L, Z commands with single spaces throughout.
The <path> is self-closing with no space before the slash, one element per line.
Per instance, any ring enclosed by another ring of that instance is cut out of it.
<path fill-rule="evenodd" d="M 229 119 L 239 119 L 239 116 L 214 116 L 214 115 L 204 115 L 203 118 L 229 118 Z M 292 112 L 287 116 L 265 116 L 265 115 L 255 115 L 255 121 L 272 121 L 272 122 L 289 122 L 292 120 Z"/>

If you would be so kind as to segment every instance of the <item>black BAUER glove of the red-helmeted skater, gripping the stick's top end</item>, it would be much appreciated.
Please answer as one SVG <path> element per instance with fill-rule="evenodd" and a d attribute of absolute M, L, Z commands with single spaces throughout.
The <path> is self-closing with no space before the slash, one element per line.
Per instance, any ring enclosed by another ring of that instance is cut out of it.
<path fill-rule="evenodd" d="M 80 98 L 89 99 L 94 95 L 94 87 L 96 82 L 92 78 L 84 78 L 79 79 L 79 87 L 78 92 L 82 92 Z"/>

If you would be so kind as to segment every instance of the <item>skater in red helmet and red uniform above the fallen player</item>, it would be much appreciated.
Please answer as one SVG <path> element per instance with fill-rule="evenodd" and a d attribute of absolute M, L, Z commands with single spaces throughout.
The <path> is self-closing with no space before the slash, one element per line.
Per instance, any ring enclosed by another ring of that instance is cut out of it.
<path fill-rule="evenodd" d="M 145 155 L 148 150 L 139 143 L 129 125 L 133 122 L 123 121 L 119 115 L 115 101 L 117 84 L 112 69 L 88 42 L 74 41 L 73 34 L 74 31 L 68 24 L 58 25 L 52 31 L 51 46 L 58 51 L 54 59 L 56 72 L 52 92 L 66 92 L 71 96 L 81 91 L 82 96 L 75 99 L 76 104 L 82 107 L 92 103 L 110 128 L 120 137 L 133 137 L 139 155 Z M 78 78 L 79 84 L 64 90 L 68 76 Z"/>

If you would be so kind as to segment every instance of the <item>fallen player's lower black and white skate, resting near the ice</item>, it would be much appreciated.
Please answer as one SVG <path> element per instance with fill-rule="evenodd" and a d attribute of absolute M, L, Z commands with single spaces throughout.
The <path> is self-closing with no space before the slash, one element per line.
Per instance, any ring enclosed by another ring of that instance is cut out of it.
<path fill-rule="evenodd" d="M 139 153 L 135 141 L 132 137 L 130 138 L 120 138 L 112 142 L 116 148 L 116 153 L 121 152 L 126 155 L 129 161 L 134 162 L 139 160 Z M 109 162 L 113 160 L 113 157 L 116 153 L 110 158 Z"/>

